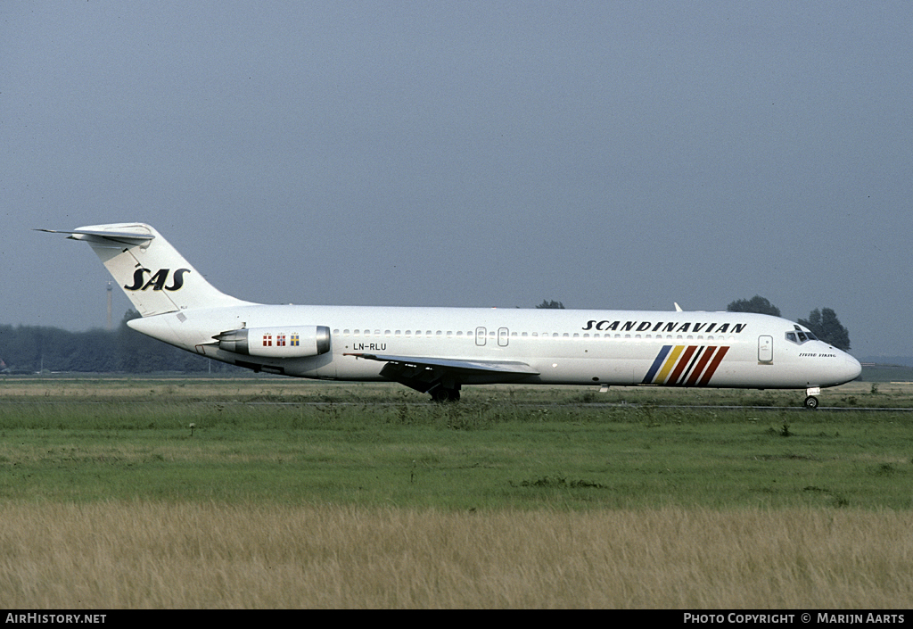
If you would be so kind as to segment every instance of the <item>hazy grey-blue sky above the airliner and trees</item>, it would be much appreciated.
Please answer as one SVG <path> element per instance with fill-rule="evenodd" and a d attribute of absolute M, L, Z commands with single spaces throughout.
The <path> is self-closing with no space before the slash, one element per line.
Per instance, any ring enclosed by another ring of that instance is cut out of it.
<path fill-rule="evenodd" d="M 0 324 L 104 325 L 30 229 L 141 220 L 252 301 L 758 293 L 913 355 L 911 42 L 908 2 L 5 2 Z"/>

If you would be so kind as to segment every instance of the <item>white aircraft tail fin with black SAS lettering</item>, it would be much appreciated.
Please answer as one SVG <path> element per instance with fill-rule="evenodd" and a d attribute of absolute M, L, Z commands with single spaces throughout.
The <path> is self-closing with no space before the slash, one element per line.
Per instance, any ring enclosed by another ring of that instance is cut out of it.
<path fill-rule="evenodd" d="M 188 308 L 243 305 L 216 290 L 155 229 L 143 223 L 89 225 L 72 231 L 40 229 L 83 240 L 95 251 L 142 316 Z"/>

